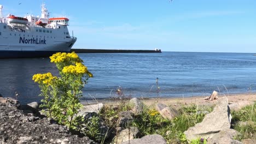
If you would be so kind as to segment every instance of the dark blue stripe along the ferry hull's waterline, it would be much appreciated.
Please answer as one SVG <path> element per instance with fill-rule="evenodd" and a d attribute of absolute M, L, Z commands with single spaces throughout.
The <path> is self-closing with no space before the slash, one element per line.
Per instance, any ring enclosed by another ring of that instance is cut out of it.
<path fill-rule="evenodd" d="M 49 57 L 56 52 L 69 51 L 0 51 L 0 58 Z"/>

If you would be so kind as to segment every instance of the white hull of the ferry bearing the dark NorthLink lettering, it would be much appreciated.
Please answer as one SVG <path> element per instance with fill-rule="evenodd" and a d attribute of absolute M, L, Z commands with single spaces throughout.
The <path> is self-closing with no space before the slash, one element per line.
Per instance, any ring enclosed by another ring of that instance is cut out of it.
<path fill-rule="evenodd" d="M 67 25 L 59 23 L 46 27 L 34 25 L 12 25 L 0 21 L 0 58 L 48 57 L 56 52 L 70 52 L 77 38 L 69 35 Z M 58 21 L 59 22 L 59 21 Z"/>

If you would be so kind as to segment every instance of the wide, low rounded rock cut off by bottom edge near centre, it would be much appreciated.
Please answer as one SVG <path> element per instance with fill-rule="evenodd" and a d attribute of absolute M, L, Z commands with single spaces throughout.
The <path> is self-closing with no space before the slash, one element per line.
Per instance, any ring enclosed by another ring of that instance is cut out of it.
<path fill-rule="evenodd" d="M 141 139 L 130 140 L 130 144 L 166 144 L 164 137 L 161 135 L 146 135 L 141 137 Z M 123 142 L 122 144 L 129 144 L 129 141 Z"/>

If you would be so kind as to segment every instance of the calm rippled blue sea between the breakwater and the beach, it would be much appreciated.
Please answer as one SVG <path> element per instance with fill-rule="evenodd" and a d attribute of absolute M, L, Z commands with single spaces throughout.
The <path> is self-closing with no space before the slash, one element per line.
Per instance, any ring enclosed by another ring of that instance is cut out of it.
<path fill-rule="evenodd" d="M 189 97 L 220 93 L 256 92 L 253 53 L 80 53 L 94 74 L 83 99 L 115 97 L 119 86 L 131 97 Z M 49 58 L 0 59 L 0 94 L 19 93 L 22 103 L 39 101 L 33 74 L 58 74 Z"/>

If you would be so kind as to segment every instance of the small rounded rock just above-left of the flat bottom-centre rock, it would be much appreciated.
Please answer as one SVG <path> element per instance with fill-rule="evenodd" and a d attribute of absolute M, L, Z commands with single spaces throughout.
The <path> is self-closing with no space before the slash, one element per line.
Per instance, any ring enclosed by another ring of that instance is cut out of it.
<path fill-rule="evenodd" d="M 130 137 L 129 137 L 130 134 Z M 139 129 L 137 127 L 131 127 L 129 129 L 121 130 L 120 133 L 115 137 L 114 143 L 120 144 L 125 141 L 136 139 L 139 136 Z"/>

